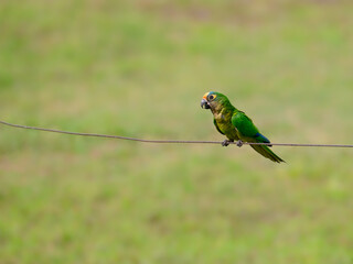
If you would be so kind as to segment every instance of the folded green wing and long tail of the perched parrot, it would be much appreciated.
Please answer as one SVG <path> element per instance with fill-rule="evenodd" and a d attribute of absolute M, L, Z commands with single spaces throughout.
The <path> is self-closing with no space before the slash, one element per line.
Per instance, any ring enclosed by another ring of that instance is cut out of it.
<path fill-rule="evenodd" d="M 234 113 L 232 117 L 232 123 L 237 129 L 240 140 L 245 142 L 254 142 L 254 143 L 266 142 L 267 139 L 259 133 L 258 129 L 255 127 L 252 119 L 249 119 L 244 112 L 238 111 Z M 279 156 L 277 156 L 267 145 L 250 145 L 250 146 L 256 152 L 271 160 L 272 162 L 277 162 L 277 163 L 285 162 Z"/>

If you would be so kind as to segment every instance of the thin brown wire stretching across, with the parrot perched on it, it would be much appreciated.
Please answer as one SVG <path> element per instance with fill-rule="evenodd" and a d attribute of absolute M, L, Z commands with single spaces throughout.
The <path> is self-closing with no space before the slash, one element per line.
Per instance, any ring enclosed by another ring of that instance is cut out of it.
<path fill-rule="evenodd" d="M 0 120 L 1 124 L 18 128 L 18 129 L 26 129 L 26 130 L 39 130 L 45 132 L 61 133 L 61 134 L 71 134 L 71 135 L 83 135 L 83 136 L 95 136 L 95 138 L 106 138 L 106 139 L 117 139 L 117 140 L 127 140 L 127 141 L 138 141 L 145 143 L 157 143 L 157 144 L 165 144 L 165 143 L 178 143 L 178 144 L 222 144 L 221 141 L 185 141 L 185 140 L 143 140 L 137 138 L 121 136 L 121 135 L 107 135 L 107 134 L 96 134 L 96 133 L 78 133 L 63 130 L 54 130 L 54 129 L 44 129 L 21 124 L 8 123 Z M 229 144 L 236 144 L 236 142 L 229 142 Z M 353 147 L 353 145 L 341 145 L 341 144 L 296 144 L 296 143 L 252 143 L 252 142 L 243 142 L 244 145 L 277 145 L 277 146 L 321 146 L 321 147 Z"/>

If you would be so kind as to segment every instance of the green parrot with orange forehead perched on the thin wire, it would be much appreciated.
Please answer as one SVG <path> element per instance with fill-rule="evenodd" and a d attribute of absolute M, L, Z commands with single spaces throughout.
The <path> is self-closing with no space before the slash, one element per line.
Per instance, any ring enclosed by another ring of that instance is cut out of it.
<path fill-rule="evenodd" d="M 243 142 L 270 143 L 270 141 L 258 131 L 252 119 L 249 119 L 245 112 L 233 107 L 228 98 L 221 92 L 206 92 L 201 100 L 201 107 L 211 109 L 214 117 L 213 123 L 217 131 L 228 138 L 223 141 L 223 146 L 227 146 L 229 142 L 234 141 L 237 141 L 237 146 L 242 146 Z M 285 162 L 268 147 L 271 145 L 250 146 L 272 162 Z"/>

